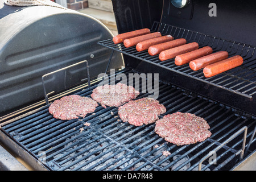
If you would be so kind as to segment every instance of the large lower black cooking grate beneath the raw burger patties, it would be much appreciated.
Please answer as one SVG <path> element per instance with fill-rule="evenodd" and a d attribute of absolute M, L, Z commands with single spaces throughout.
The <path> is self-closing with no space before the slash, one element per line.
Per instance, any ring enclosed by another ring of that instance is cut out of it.
<path fill-rule="evenodd" d="M 135 72 L 125 68 L 118 73 Z M 97 84 L 73 94 L 90 97 Z M 138 98 L 146 97 L 148 93 L 142 94 L 140 89 Z M 61 121 L 48 113 L 49 105 L 46 105 L 34 114 L 3 125 L 1 130 L 51 170 L 192 170 L 197 169 L 204 156 L 231 137 L 229 143 L 216 151 L 216 164 L 205 160 L 202 168 L 229 170 L 238 162 L 243 143 L 243 132 L 233 135 L 243 128 L 247 129 L 245 147 L 250 146 L 245 155 L 255 150 L 256 119 L 251 115 L 240 115 L 230 107 L 162 81 L 158 100 L 167 108 L 163 115 L 181 111 L 205 118 L 212 136 L 204 142 L 176 146 L 155 134 L 154 123 L 136 127 L 120 120 L 117 107 L 101 106 L 85 118 Z M 86 122 L 90 126 L 85 126 Z M 171 155 L 164 156 L 165 150 Z"/>

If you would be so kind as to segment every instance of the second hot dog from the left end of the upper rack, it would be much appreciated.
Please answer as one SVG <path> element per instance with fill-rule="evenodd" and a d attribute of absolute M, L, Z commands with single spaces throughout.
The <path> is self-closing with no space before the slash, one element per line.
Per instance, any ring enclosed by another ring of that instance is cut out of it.
<path fill-rule="evenodd" d="M 154 32 L 151 34 L 135 36 L 134 38 L 125 39 L 123 41 L 123 45 L 125 45 L 125 47 L 136 46 L 139 42 L 142 42 L 142 41 L 148 40 L 148 39 L 158 38 L 159 36 L 162 36 L 160 32 Z"/>

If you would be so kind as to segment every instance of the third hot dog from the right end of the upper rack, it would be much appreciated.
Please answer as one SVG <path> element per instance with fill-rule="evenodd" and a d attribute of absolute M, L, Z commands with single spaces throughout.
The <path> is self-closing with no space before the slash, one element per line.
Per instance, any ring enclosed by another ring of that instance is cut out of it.
<path fill-rule="evenodd" d="M 211 47 L 205 46 L 203 48 L 196 49 L 195 51 L 183 53 L 182 55 L 177 55 L 175 57 L 174 63 L 177 66 L 187 64 L 192 60 L 198 59 L 199 57 L 209 55 L 210 53 L 212 53 L 212 51 L 213 50 Z"/>

